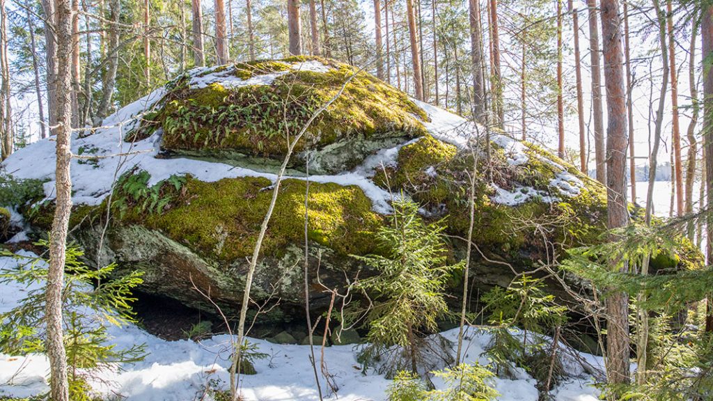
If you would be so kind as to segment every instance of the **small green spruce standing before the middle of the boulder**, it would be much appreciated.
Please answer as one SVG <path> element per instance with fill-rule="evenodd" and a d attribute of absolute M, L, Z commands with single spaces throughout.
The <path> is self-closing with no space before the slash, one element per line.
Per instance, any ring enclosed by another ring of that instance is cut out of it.
<path fill-rule="evenodd" d="M 443 224 L 424 223 L 418 210 L 409 200 L 394 201 L 391 224 L 376 234 L 384 255 L 353 256 L 377 272 L 356 283 L 373 300 L 368 310 L 361 310 L 371 344 L 366 354 L 401 347 L 414 372 L 421 338 L 435 333 L 437 320 L 448 315 L 445 284 L 459 266 L 446 264 Z"/>

